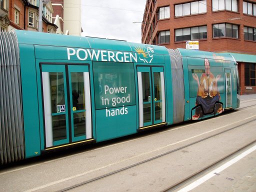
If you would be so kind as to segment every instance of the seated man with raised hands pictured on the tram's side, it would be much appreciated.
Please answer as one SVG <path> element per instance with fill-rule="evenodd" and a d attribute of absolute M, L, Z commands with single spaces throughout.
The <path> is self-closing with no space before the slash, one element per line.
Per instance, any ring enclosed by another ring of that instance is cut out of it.
<path fill-rule="evenodd" d="M 214 105 L 220 99 L 220 94 L 217 88 L 217 81 L 220 78 L 220 74 L 214 77 L 210 72 L 210 64 L 207 58 L 204 59 L 204 69 L 205 72 L 201 74 L 200 81 L 196 73 L 193 73 L 193 79 L 196 80 L 198 90 L 195 105 L 201 104 L 203 112 L 209 113 L 213 111 Z M 217 109 L 218 113 L 222 112 L 222 105 L 219 104 Z M 192 115 L 192 119 L 196 120 L 200 116 L 199 108 L 195 109 L 195 114 Z"/>

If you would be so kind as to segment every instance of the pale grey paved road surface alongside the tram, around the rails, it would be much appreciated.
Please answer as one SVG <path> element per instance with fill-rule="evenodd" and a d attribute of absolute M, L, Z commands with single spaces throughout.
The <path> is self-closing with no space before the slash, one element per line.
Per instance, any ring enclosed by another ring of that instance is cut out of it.
<path fill-rule="evenodd" d="M 256 99 L 251 99 L 252 97 L 253 95 L 242 96 L 241 107 L 256 104 Z M 83 149 L 79 148 L 72 154 L 68 154 L 71 152 L 69 150 L 62 154 L 58 152 L 58 155 L 53 157 L 48 155 L 33 159 L 33 161 L 24 161 L 0 170 L 0 191 L 57 191 L 237 126 L 237 128 L 202 142 L 71 190 L 161 191 L 253 141 L 256 135 L 256 122 L 246 122 L 255 119 L 256 106 L 251 106 L 203 121 L 182 123 L 165 129 L 161 128 L 87 146 Z M 235 184 L 240 183 L 240 179 L 244 180 L 243 177 L 247 178 L 247 173 L 254 171 L 255 152 L 246 156 L 242 161 L 239 162 L 245 167 L 234 164 L 233 168 L 229 167 L 231 169 L 229 172 L 224 174 L 228 170 L 226 169 L 212 178 L 228 177 L 232 180 L 209 179 L 193 190 L 228 191 L 228 189 L 233 189 L 232 186 L 238 186 Z M 234 173 L 231 174 L 232 171 Z"/>

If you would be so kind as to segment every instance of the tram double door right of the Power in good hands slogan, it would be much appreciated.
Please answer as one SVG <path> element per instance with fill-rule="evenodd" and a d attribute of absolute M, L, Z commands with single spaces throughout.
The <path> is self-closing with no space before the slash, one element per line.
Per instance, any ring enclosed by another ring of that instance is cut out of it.
<path fill-rule="evenodd" d="M 138 66 L 139 128 L 165 122 L 163 67 Z"/>

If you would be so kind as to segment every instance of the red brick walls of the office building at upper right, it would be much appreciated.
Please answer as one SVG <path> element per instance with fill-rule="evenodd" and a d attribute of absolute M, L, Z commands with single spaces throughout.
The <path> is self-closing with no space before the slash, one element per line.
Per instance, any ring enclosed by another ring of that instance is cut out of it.
<path fill-rule="evenodd" d="M 256 2 L 256 0 L 253 0 Z M 170 3 L 171 2 L 171 3 Z M 207 25 L 207 39 L 199 40 L 199 49 L 205 51 L 229 51 L 229 52 L 241 52 L 256 54 L 255 42 L 244 41 L 243 39 L 243 26 L 256 27 L 256 17 L 248 16 L 242 13 L 242 0 L 238 0 L 238 11 L 214 11 L 211 10 L 211 0 L 207 0 L 207 12 L 196 15 L 188 15 L 181 17 L 174 17 L 174 5 L 184 2 L 189 2 L 189 0 L 157 0 L 154 4 L 152 0 L 147 1 L 145 6 L 145 12 L 142 24 L 142 43 L 151 43 L 151 31 L 150 24 L 155 19 L 156 25 L 153 27 L 153 39 L 156 40 L 157 35 L 161 30 L 170 30 L 170 43 L 162 44 L 167 48 L 185 48 L 185 42 L 174 42 L 175 40 L 175 29 L 186 28 L 193 26 Z M 170 6 L 170 18 L 158 20 L 157 21 L 157 11 L 159 7 Z M 148 11 L 149 10 L 149 11 Z M 152 12 L 152 13 L 150 13 Z M 232 19 L 237 18 L 241 19 Z M 237 38 L 213 38 L 212 37 L 212 24 L 216 23 L 231 23 L 239 26 L 238 28 L 238 39 Z M 149 38 L 146 38 L 149 37 Z"/>

